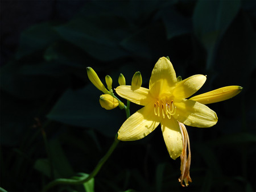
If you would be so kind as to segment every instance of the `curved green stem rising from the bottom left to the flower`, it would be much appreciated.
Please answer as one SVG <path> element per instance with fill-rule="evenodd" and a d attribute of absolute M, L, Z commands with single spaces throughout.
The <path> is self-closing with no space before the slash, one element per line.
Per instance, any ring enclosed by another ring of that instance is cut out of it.
<path fill-rule="evenodd" d="M 126 117 L 129 118 L 130 116 L 130 102 L 127 101 L 127 106 L 125 106 L 125 112 L 126 112 Z M 74 179 L 67 179 L 67 178 L 59 178 L 56 179 L 52 182 L 49 182 L 42 191 L 47 191 L 48 189 L 50 189 L 53 186 L 56 185 L 80 185 L 82 183 L 88 182 L 90 179 L 92 179 L 93 177 L 95 177 L 97 175 L 97 173 L 100 171 L 102 165 L 104 165 L 104 163 L 106 162 L 106 160 L 108 160 L 108 158 L 110 157 L 110 155 L 112 154 L 112 152 L 114 151 L 114 149 L 117 147 L 117 144 L 119 143 L 119 140 L 117 139 L 118 134 L 115 135 L 115 139 L 113 144 L 111 145 L 111 147 L 109 148 L 109 151 L 105 154 L 104 157 L 101 158 L 101 160 L 98 162 L 98 164 L 96 165 L 96 168 L 94 168 L 94 170 L 92 171 L 92 173 L 90 173 L 90 175 L 87 177 L 80 177 L 80 180 L 74 180 Z"/>

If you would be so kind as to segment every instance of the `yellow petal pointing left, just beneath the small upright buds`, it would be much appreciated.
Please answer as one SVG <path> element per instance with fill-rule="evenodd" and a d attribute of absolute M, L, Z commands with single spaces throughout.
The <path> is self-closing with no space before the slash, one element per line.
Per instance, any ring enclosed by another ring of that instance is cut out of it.
<path fill-rule="evenodd" d="M 125 98 L 138 105 L 147 105 L 147 103 L 149 103 L 152 99 L 150 94 L 148 94 L 149 90 L 144 87 L 133 89 L 133 87 L 131 87 L 130 85 L 121 85 L 118 86 L 115 91 L 120 97 Z"/>

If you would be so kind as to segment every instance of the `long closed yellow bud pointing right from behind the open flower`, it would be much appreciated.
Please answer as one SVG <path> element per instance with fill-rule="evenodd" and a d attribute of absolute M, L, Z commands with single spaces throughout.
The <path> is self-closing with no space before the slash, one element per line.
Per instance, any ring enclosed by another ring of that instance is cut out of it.
<path fill-rule="evenodd" d="M 243 87 L 241 86 L 226 86 L 221 87 L 220 89 L 209 91 L 207 93 L 196 95 L 190 99 L 203 104 L 216 103 L 236 96 L 242 91 L 242 89 Z"/>

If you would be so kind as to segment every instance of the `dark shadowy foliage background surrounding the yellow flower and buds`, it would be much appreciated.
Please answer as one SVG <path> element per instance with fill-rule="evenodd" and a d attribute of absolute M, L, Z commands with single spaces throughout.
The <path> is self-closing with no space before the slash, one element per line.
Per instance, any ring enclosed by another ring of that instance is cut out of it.
<path fill-rule="evenodd" d="M 211 128 L 187 127 L 192 183 L 160 128 L 121 142 L 94 178 L 96 191 L 255 191 L 255 1 L 1 1 L 1 183 L 39 191 L 55 178 L 90 173 L 125 111 L 106 111 L 86 75 L 91 66 L 118 86 L 136 71 L 143 86 L 169 56 L 177 76 L 207 74 L 198 93 L 240 85 L 208 105 Z M 131 112 L 139 106 L 131 104 Z M 90 187 L 92 189 L 92 187 Z M 83 191 L 56 186 L 55 191 Z"/>

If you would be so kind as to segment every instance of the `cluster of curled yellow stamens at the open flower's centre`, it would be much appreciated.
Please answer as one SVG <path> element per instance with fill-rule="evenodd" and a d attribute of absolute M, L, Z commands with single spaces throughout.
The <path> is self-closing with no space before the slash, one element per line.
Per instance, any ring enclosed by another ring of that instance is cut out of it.
<path fill-rule="evenodd" d="M 163 118 L 167 116 L 168 119 L 171 119 L 171 116 L 176 113 L 174 100 L 172 100 L 171 103 L 168 103 L 165 100 L 156 101 L 154 103 L 154 112 L 156 116 L 160 116 L 162 114 Z"/>

